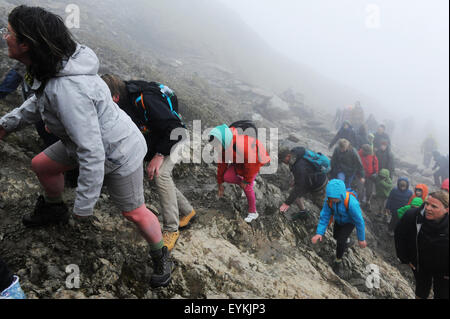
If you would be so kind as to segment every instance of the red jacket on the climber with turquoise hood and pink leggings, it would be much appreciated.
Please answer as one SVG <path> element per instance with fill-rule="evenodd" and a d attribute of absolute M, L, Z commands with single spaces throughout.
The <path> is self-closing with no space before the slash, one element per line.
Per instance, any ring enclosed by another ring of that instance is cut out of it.
<path fill-rule="evenodd" d="M 261 167 L 270 162 L 269 154 L 256 138 L 238 135 L 235 128 L 230 129 L 233 132 L 233 142 L 222 152 L 222 160 L 217 167 L 217 183 L 224 183 L 224 175 L 230 164 L 234 164 L 237 175 L 242 176 L 247 183 L 251 183 Z M 227 160 L 232 162 L 229 163 Z"/>

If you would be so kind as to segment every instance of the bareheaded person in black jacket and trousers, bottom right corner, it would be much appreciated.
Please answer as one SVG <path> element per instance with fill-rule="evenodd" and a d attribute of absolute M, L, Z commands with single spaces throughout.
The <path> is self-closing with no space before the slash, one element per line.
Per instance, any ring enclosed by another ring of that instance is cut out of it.
<path fill-rule="evenodd" d="M 420 208 L 409 210 L 395 230 L 397 257 L 411 267 L 416 298 L 449 299 L 448 193 L 431 193 Z"/>

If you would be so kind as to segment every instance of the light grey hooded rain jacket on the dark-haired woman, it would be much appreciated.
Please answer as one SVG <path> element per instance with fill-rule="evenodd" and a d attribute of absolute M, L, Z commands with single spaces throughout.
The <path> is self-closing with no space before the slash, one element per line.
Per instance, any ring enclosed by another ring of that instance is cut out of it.
<path fill-rule="evenodd" d="M 61 139 L 69 156 L 79 163 L 74 213 L 93 214 L 104 175 L 127 176 L 136 171 L 147 153 L 144 137 L 112 100 L 98 76 L 99 60 L 86 46 L 78 45 L 50 79 L 42 93 L 0 119 L 8 133 L 41 120 Z M 33 90 L 41 86 L 34 80 Z"/>

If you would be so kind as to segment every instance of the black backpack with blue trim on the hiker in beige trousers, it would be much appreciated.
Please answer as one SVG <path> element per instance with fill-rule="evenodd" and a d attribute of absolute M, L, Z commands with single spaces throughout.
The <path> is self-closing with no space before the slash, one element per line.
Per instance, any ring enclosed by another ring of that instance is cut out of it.
<path fill-rule="evenodd" d="M 146 81 L 128 81 L 126 85 L 135 107 L 133 121 L 142 133 L 149 131 L 148 126 L 152 121 L 177 121 L 186 128 L 178 113 L 178 98 L 168 86 Z"/>

